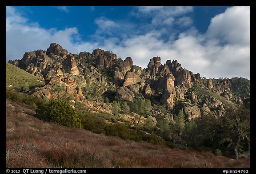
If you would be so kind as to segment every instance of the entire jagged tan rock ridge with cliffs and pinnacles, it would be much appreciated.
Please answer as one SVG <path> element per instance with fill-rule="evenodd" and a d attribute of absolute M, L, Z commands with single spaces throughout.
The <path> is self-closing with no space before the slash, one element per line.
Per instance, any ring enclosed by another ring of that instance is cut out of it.
<path fill-rule="evenodd" d="M 46 51 L 26 52 L 21 60 L 9 62 L 44 78 L 46 85 L 33 94 L 37 97 L 50 99 L 61 94 L 84 101 L 95 95 L 93 100 L 97 102 L 103 102 L 106 95 L 130 102 L 137 97 L 154 98 L 152 102 L 165 104 L 169 110 L 182 106 L 188 120 L 213 110 L 221 115 L 220 108 L 227 104 L 223 100 L 241 104 L 250 97 L 250 81 L 241 77 L 205 79 L 199 73 L 183 69 L 177 60 L 167 60 L 162 65 L 160 57 L 151 58 L 142 70 L 133 65 L 132 58 L 123 61 L 99 48 L 92 54 L 68 54 L 68 50 L 52 43 Z M 212 96 L 201 95 L 205 90 Z"/>

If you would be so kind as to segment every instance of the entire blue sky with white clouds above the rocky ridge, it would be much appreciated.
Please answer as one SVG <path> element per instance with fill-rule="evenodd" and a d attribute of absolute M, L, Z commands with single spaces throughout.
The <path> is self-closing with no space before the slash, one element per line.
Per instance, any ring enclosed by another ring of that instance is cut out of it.
<path fill-rule="evenodd" d="M 146 68 L 178 60 L 201 77 L 250 79 L 250 6 L 7 6 L 6 61 L 58 43 Z"/>

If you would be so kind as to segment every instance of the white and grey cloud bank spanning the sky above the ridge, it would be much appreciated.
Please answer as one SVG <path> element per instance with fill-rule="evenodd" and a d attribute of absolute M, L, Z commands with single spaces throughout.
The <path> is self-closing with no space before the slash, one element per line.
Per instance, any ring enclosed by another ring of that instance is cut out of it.
<path fill-rule="evenodd" d="M 22 58 L 20 55 L 27 51 L 46 50 L 54 42 L 72 53 L 92 52 L 95 48 L 111 50 L 123 59 L 132 57 L 134 64 L 142 68 L 147 67 L 150 58 L 160 56 L 162 64 L 168 59 L 177 59 L 183 68 L 200 73 L 202 77 L 250 79 L 250 7 L 228 8 L 212 18 L 208 31 L 203 34 L 192 26 L 192 19 L 184 15 L 192 12 L 192 7 L 150 6 L 136 9 L 151 19 L 149 27 L 142 30 L 144 32 L 128 33 L 135 27 L 124 27 L 124 23 L 100 17 L 94 21 L 98 28 L 93 37 L 97 38 L 78 42 L 75 38 L 80 34 L 76 27 L 46 30 L 36 23 L 28 23 L 28 19 L 15 8 L 7 7 L 6 60 Z M 169 28 L 152 27 L 161 22 L 187 27 L 187 30 L 176 37 Z M 163 33 L 167 37 L 163 38 Z"/>

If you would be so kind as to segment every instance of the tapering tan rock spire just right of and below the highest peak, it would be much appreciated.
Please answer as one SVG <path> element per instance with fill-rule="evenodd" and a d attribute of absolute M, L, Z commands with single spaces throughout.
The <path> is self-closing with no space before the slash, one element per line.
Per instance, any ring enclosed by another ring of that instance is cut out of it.
<path fill-rule="evenodd" d="M 75 60 L 75 56 L 73 56 L 72 54 L 68 54 L 67 58 L 63 61 L 63 67 L 62 69 L 70 74 L 73 75 L 78 75 L 79 70 L 76 66 L 76 60 Z"/>

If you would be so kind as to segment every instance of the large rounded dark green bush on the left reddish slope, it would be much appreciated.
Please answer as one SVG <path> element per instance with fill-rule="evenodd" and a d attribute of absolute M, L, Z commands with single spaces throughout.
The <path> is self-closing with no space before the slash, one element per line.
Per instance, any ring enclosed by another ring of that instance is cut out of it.
<path fill-rule="evenodd" d="M 80 128 L 81 120 L 68 103 L 60 100 L 41 104 L 36 109 L 36 116 L 43 121 L 56 122 L 63 126 Z"/>

